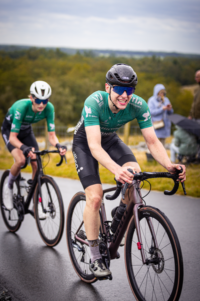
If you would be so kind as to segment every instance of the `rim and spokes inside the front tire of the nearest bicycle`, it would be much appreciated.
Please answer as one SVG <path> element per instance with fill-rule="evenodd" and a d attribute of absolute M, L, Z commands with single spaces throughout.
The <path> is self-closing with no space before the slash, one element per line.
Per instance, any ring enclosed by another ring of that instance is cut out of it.
<path fill-rule="evenodd" d="M 147 218 L 142 216 L 139 223 L 147 264 L 143 264 L 141 261 L 140 251 L 137 248 L 136 231 L 134 230 L 133 235 L 131 235 L 132 239 L 127 237 L 127 239 L 131 239 L 129 281 L 138 300 L 174 300 L 178 285 L 177 271 L 179 265 L 174 242 L 169 239 L 167 233 L 170 230 L 162 219 L 157 220 L 156 216 L 155 218 L 151 216 L 150 220 L 156 234 L 158 247 L 155 248 L 154 243 L 152 243 Z"/>

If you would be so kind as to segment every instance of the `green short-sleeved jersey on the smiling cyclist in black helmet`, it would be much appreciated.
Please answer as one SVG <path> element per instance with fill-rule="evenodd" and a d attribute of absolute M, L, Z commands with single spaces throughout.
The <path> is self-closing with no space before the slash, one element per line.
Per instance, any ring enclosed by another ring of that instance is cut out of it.
<path fill-rule="evenodd" d="M 112 113 L 108 106 L 108 93 L 96 91 L 84 102 L 81 119 L 75 127 L 74 134 L 84 126 L 99 125 L 101 136 L 109 136 L 125 123 L 137 119 L 140 128 L 152 126 L 149 108 L 139 96 L 132 94 L 124 110 Z"/>

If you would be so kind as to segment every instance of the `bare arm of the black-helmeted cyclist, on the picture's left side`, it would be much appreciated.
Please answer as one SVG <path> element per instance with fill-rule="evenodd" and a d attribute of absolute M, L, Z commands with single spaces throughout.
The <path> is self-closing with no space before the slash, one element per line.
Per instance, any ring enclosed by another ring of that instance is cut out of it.
<path fill-rule="evenodd" d="M 101 147 L 101 135 L 99 125 L 91 125 L 85 127 L 87 142 L 92 156 L 112 174 L 115 179 L 122 184 L 125 182 L 132 183 L 133 175 L 127 171 L 131 167 L 120 167 L 116 164 L 105 150 Z"/>

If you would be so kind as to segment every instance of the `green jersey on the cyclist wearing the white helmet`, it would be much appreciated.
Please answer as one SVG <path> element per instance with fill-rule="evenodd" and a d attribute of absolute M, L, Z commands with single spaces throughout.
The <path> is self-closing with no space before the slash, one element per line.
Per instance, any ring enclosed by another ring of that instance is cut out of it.
<path fill-rule="evenodd" d="M 26 129 L 31 123 L 36 123 L 46 118 L 48 131 L 54 131 L 54 107 L 48 101 L 43 111 L 34 113 L 30 99 L 20 99 L 15 101 L 8 109 L 5 118 L 11 124 L 11 132 L 19 132 L 20 129 Z"/>

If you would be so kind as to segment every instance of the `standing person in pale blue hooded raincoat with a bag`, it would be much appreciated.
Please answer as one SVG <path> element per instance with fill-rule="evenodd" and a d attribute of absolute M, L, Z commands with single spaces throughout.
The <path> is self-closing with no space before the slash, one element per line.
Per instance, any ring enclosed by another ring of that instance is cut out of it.
<path fill-rule="evenodd" d="M 171 121 L 167 115 L 173 113 L 172 105 L 166 97 L 166 89 L 162 84 L 156 84 L 153 88 L 153 96 L 148 99 L 148 107 L 151 120 L 157 138 L 165 146 L 166 137 L 171 133 Z"/>

